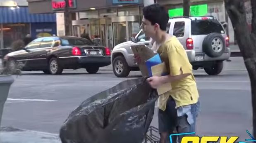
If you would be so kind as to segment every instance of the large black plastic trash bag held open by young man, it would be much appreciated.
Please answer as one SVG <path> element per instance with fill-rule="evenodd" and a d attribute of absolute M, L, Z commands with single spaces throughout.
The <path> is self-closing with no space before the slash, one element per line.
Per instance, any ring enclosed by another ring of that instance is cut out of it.
<path fill-rule="evenodd" d="M 142 143 L 158 94 L 145 77 L 86 99 L 60 129 L 62 143 Z"/>

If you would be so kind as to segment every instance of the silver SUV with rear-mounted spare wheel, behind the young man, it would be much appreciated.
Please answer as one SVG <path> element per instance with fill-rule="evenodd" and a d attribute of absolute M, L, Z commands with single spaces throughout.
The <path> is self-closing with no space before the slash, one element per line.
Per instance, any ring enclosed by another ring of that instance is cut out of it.
<path fill-rule="evenodd" d="M 166 32 L 181 42 L 194 70 L 204 68 L 208 75 L 218 75 L 223 70 L 223 61 L 230 57 L 225 28 L 213 16 L 171 18 Z M 152 47 L 150 38 L 140 30 L 131 41 L 114 47 L 111 62 L 117 77 L 127 77 L 130 71 L 139 70 L 131 46 L 143 44 Z"/>

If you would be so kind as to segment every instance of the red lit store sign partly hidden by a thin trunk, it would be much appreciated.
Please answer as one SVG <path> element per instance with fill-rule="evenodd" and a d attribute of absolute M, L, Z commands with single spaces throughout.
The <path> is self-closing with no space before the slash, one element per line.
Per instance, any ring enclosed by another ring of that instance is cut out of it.
<path fill-rule="evenodd" d="M 69 8 L 77 8 L 76 0 L 67 0 Z M 52 0 L 53 10 L 65 9 L 66 1 L 65 0 Z"/>

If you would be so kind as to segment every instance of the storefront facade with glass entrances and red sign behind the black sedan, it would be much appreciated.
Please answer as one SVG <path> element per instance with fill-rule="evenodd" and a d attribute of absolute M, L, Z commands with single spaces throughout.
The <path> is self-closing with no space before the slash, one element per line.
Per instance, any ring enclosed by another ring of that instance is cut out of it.
<path fill-rule="evenodd" d="M 31 13 L 57 15 L 57 35 L 65 35 L 65 0 L 28 0 Z M 155 0 L 67 0 L 72 12 L 72 35 L 99 37 L 103 46 L 129 41 L 139 32 L 144 5 Z M 47 8 L 39 7 L 44 5 Z"/>

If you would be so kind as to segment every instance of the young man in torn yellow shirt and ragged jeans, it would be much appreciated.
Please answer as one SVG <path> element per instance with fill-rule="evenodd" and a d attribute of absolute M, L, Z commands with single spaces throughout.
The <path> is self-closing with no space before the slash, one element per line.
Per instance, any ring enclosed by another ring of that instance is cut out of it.
<path fill-rule="evenodd" d="M 159 96 L 158 128 L 160 143 L 170 143 L 170 134 L 195 132 L 199 105 L 199 93 L 186 51 L 175 36 L 166 33 L 169 20 L 166 9 L 158 4 L 143 9 L 142 29 L 153 39 L 156 51 L 170 73 L 166 76 L 149 77 L 147 81 L 156 89 L 170 82 L 172 90 Z M 138 55 L 134 55 L 140 61 Z M 193 135 L 186 135 L 193 136 Z M 182 135 L 178 136 L 181 142 Z M 173 143 L 176 142 L 172 139 Z"/>

